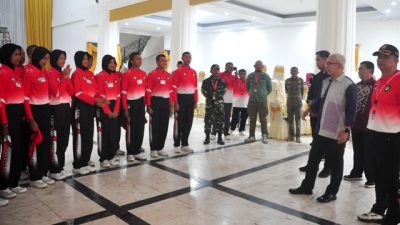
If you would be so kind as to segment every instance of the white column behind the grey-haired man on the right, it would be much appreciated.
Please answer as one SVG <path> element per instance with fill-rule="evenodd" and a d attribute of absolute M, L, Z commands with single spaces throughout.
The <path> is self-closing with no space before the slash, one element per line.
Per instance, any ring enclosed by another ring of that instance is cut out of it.
<path fill-rule="evenodd" d="M 345 73 L 355 76 L 356 0 L 319 0 L 317 51 L 328 50 L 346 57 Z"/>

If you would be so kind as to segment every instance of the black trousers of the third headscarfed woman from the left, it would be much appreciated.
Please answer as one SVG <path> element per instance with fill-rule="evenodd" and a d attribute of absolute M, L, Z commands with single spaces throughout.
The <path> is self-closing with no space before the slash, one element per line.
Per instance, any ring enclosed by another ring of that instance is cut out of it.
<path fill-rule="evenodd" d="M 53 129 L 57 134 L 57 158 L 50 157 L 50 173 L 60 173 L 65 166 L 65 152 L 68 147 L 71 129 L 71 107 L 69 103 L 52 105 L 50 106 L 50 112 L 54 123 Z"/>

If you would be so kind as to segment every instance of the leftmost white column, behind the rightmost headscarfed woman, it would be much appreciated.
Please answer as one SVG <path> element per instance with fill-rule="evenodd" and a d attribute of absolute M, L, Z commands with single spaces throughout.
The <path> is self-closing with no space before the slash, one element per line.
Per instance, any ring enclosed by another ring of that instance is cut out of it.
<path fill-rule="evenodd" d="M 97 43 L 96 72 L 101 71 L 101 60 L 104 55 L 117 57 L 119 44 L 119 28 L 117 22 L 110 22 L 109 7 L 104 1 L 99 1 L 99 25 Z"/>

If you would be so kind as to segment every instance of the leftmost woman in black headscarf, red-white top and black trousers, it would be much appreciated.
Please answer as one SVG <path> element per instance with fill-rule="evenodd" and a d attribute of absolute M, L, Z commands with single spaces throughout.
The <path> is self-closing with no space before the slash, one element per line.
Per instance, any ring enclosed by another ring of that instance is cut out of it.
<path fill-rule="evenodd" d="M 9 135 L 12 143 L 8 177 L 0 174 L 0 206 L 8 202 L 3 199 L 14 198 L 16 194 L 26 192 L 26 188 L 18 186 L 23 160 L 22 118 L 26 116 L 32 130 L 37 129 L 37 124 L 32 119 L 29 101 L 25 98 L 24 84 L 15 71 L 20 54 L 19 46 L 15 44 L 5 44 L 0 48 L 1 136 Z M 5 158 L 2 159 L 2 163 L 4 160 Z"/>

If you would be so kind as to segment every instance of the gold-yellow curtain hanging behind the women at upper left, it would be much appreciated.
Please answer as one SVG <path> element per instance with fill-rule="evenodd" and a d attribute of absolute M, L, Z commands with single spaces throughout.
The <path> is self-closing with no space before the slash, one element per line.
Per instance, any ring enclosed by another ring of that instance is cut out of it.
<path fill-rule="evenodd" d="M 52 49 L 52 0 L 25 0 L 26 42 Z"/>

